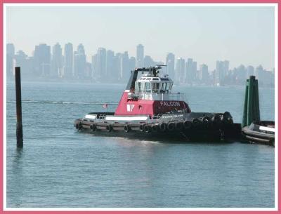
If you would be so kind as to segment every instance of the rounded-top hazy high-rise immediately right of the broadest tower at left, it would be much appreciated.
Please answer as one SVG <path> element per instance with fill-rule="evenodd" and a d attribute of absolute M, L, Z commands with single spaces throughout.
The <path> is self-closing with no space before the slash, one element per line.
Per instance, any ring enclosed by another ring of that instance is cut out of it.
<path fill-rule="evenodd" d="M 63 77 L 63 51 L 60 44 L 53 46 L 53 55 L 51 60 L 51 76 Z"/>

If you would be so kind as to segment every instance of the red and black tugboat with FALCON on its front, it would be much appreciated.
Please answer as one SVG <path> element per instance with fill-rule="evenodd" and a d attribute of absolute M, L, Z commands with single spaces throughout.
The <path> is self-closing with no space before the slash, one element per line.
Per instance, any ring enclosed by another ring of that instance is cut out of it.
<path fill-rule="evenodd" d="M 183 93 L 173 93 L 163 65 L 136 68 L 115 112 L 91 112 L 74 121 L 78 131 L 95 134 L 155 136 L 185 141 L 231 140 L 241 135 L 241 124 L 229 112 L 191 112 Z M 138 79 L 138 74 L 142 73 Z"/>

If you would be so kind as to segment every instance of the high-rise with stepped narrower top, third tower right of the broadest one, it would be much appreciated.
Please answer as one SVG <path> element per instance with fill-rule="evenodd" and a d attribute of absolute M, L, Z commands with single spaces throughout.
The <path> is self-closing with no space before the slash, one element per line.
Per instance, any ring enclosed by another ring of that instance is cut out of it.
<path fill-rule="evenodd" d="M 82 44 L 74 52 L 74 76 L 78 79 L 86 78 L 86 54 Z"/>

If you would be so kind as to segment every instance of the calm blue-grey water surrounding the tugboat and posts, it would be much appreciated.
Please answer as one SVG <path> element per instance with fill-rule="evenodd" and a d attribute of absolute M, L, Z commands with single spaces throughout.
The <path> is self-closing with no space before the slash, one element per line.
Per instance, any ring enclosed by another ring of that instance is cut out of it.
<path fill-rule="evenodd" d="M 274 148 L 95 137 L 74 119 L 114 111 L 124 86 L 22 83 L 24 147 L 15 147 L 15 91 L 7 85 L 7 207 L 273 207 Z M 195 112 L 242 120 L 244 87 L 177 87 Z M 274 120 L 274 90 L 260 88 Z"/>

